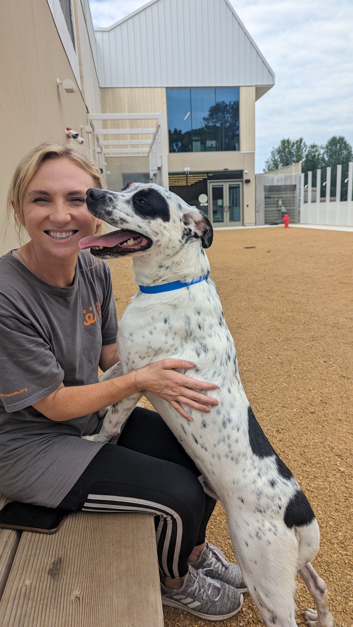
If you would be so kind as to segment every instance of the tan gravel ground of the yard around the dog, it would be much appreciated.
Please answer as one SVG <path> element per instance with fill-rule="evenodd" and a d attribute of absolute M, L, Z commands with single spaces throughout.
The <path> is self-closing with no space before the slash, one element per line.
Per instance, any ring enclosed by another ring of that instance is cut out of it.
<path fill-rule="evenodd" d="M 239 229 L 216 231 L 207 251 L 251 406 L 317 515 L 314 566 L 336 627 L 353 627 L 352 244 L 339 231 Z M 136 291 L 131 260 L 109 264 L 120 317 Z M 207 535 L 234 560 L 220 504 Z M 303 625 L 312 601 L 301 581 L 296 604 Z M 210 624 L 165 608 L 165 627 Z M 241 613 L 213 624 L 263 623 L 246 595 Z"/>

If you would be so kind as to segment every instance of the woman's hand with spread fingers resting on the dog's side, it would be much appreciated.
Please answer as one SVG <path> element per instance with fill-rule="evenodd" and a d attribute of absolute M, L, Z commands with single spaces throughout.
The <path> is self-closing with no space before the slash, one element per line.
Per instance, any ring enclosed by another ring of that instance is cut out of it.
<path fill-rule="evenodd" d="M 136 382 L 139 389 L 147 390 L 160 396 L 180 413 L 183 418 L 192 420 L 192 416 L 185 411 L 182 405 L 198 409 L 198 411 L 211 411 L 209 405 L 218 405 L 218 401 L 211 396 L 201 394 L 201 390 L 215 390 L 218 386 L 213 383 L 205 383 L 192 379 L 186 374 L 175 369 L 195 368 L 195 364 L 183 359 L 162 359 L 149 364 L 136 372 Z"/>

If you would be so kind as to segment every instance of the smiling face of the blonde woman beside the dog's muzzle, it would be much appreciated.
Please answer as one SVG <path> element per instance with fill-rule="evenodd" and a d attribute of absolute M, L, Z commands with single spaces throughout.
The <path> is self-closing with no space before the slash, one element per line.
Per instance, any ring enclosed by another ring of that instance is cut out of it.
<path fill-rule="evenodd" d="M 94 180 L 82 168 L 63 157 L 41 164 L 23 198 L 23 225 L 35 248 L 58 258 L 79 252 L 79 241 L 94 235 L 100 220 L 85 203 Z"/>

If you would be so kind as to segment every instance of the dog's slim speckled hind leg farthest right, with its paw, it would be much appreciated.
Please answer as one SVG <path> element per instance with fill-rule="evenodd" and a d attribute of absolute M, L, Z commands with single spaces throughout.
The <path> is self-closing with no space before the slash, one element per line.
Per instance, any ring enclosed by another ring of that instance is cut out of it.
<path fill-rule="evenodd" d="M 307 608 L 305 612 L 305 620 L 309 627 L 333 627 L 334 617 L 331 614 L 330 606 L 327 601 L 327 586 L 325 581 L 318 576 L 317 572 L 308 562 L 300 569 L 301 579 L 305 581 L 308 591 L 312 595 L 317 611 Z"/>

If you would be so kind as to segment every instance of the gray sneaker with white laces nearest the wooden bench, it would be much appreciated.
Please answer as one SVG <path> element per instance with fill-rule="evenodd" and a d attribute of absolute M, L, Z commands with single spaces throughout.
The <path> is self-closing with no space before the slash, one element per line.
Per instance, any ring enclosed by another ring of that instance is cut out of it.
<path fill-rule="evenodd" d="M 221 621 L 237 614 L 243 598 L 241 592 L 222 581 L 206 577 L 201 571 L 189 566 L 183 586 L 172 590 L 161 583 L 162 604 L 185 609 L 198 618 Z"/>

